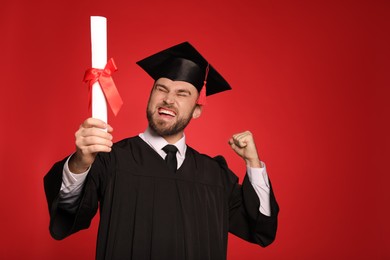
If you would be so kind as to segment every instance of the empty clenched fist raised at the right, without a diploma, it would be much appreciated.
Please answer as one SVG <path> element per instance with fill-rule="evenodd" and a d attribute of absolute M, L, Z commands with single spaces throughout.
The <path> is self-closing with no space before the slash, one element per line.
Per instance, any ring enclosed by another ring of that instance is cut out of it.
<path fill-rule="evenodd" d="M 249 131 L 238 133 L 232 136 L 229 140 L 232 149 L 242 157 L 246 164 L 252 168 L 260 168 L 260 158 L 257 154 L 257 149 L 253 135 Z"/>

